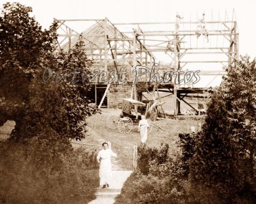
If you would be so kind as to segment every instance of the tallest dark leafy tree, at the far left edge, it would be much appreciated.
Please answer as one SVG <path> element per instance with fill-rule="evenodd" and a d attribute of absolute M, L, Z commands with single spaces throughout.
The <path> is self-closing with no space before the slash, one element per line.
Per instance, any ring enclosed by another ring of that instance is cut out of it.
<path fill-rule="evenodd" d="M 56 39 L 49 30 L 30 17 L 31 7 L 6 3 L 0 15 L 0 125 L 7 119 L 18 121 L 25 111 L 32 78 L 48 63 Z"/>

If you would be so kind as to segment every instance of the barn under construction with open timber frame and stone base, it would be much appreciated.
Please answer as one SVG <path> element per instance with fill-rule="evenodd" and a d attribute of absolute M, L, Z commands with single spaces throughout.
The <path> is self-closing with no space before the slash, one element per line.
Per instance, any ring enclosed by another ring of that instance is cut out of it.
<path fill-rule="evenodd" d="M 118 107 L 122 98 L 161 102 L 162 98 L 172 95 L 173 110 L 161 108 L 163 113 L 170 111 L 178 117 L 182 115 L 182 104 L 190 115 L 197 115 L 203 102 L 196 107 L 189 99 L 205 98 L 208 87 L 196 87 L 196 76 L 193 74 L 199 70 L 201 78 L 213 76 L 208 84 L 216 77 L 225 75 L 223 68 L 233 64 L 239 55 L 238 26 L 234 11 L 232 20 L 227 20 L 226 14 L 225 20 L 219 17 L 214 20 L 212 17 L 210 21 L 205 20 L 204 13 L 195 21 L 191 17 L 185 20 L 178 14 L 175 16 L 174 22 L 144 23 L 112 23 L 108 18 L 56 19 L 59 25 L 58 43 L 60 49 L 68 52 L 82 38 L 88 58 L 93 59 L 91 69 L 106 73 L 105 82 L 100 80 L 100 74 L 91 82 L 95 86 L 91 99 L 97 105 Z M 78 32 L 72 27 L 78 22 L 90 22 L 90 26 Z M 159 56 L 160 59 L 164 56 L 165 62 L 160 61 Z M 136 73 L 134 70 L 138 66 L 148 67 L 150 72 Z M 125 74 L 120 77 L 121 72 Z M 168 72 L 175 72 L 176 75 L 165 82 L 163 79 Z M 110 78 L 111 73 L 119 81 L 109 83 L 113 79 Z M 136 74 L 141 76 L 137 85 L 132 86 Z M 158 82 L 150 81 L 152 75 L 154 79 L 158 78 Z M 125 82 L 120 84 L 120 80 Z"/>

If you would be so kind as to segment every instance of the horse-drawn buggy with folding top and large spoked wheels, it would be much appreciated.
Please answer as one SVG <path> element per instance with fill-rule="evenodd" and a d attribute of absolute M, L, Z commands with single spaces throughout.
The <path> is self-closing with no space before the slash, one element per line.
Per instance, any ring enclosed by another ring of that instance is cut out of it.
<path fill-rule="evenodd" d="M 145 115 L 145 113 L 145 103 L 130 98 L 124 98 L 122 103 L 122 113 L 120 115 L 116 113 L 108 115 L 106 118 L 106 125 L 110 129 L 117 128 L 120 133 L 128 133 L 132 128 L 139 124 L 141 115 Z M 147 120 L 150 125 L 148 128 L 149 133 L 152 128 L 156 128 L 157 126 L 150 119 Z"/>

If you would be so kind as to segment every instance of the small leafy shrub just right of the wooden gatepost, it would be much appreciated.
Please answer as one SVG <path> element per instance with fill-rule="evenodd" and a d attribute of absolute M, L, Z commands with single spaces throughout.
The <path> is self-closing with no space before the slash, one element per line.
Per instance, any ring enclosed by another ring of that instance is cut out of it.
<path fill-rule="evenodd" d="M 166 162 L 168 158 L 169 145 L 163 143 L 160 148 L 150 148 L 146 144 L 141 144 L 138 146 L 138 168 L 141 173 L 148 174 L 149 172 L 149 162 L 155 160 L 157 164 L 162 164 Z"/>

